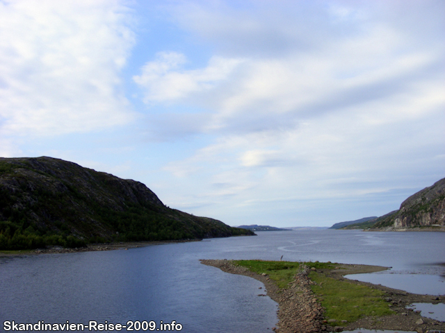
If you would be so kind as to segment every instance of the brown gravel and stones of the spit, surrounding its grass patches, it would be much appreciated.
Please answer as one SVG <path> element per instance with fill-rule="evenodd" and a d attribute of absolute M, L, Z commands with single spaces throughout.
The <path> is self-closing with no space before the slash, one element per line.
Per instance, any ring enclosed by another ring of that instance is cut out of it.
<path fill-rule="evenodd" d="M 270 280 L 267 275 L 259 275 L 248 268 L 232 264 L 232 260 L 227 259 L 201 259 L 200 262 L 207 266 L 220 268 L 221 271 L 232 274 L 249 276 L 259 280 L 264 284 L 267 296 L 278 303 L 277 327 L 273 327 L 276 333 L 312 333 L 312 332 L 341 332 L 342 330 L 368 329 L 368 330 L 404 330 L 415 332 L 426 332 L 427 330 L 445 330 L 445 323 L 435 321 L 434 319 L 420 316 L 412 309 L 406 309 L 407 305 L 413 302 L 439 303 L 445 302 L 445 296 L 431 296 L 408 293 L 398 289 L 371 284 L 369 282 L 360 282 L 343 278 L 344 275 L 373 273 L 385 271 L 389 268 L 382 266 L 353 265 L 353 264 L 335 264 L 336 268 L 317 269 L 318 273 L 323 273 L 330 278 L 337 280 L 346 280 L 354 284 L 362 284 L 373 289 L 379 289 L 387 294 L 385 300 L 389 307 L 395 311 L 395 314 L 389 316 L 367 316 L 360 318 L 354 323 L 345 323 L 342 327 L 330 327 L 329 323 L 323 318 L 323 307 L 316 299 L 316 296 L 310 289 L 314 284 L 307 274 L 311 271 L 305 268 L 304 271 L 296 275 L 296 279 L 289 284 L 286 289 L 279 289 L 275 282 Z M 260 289 L 261 293 L 264 289 Z M 259 294 L 258 296 L 266 296 Z M 422 323 L 419 322 L 421 319 Z M 417 322 L 417 323 L 416 323 Z M 419 324 L 420 323 L 420 324 Z"/>

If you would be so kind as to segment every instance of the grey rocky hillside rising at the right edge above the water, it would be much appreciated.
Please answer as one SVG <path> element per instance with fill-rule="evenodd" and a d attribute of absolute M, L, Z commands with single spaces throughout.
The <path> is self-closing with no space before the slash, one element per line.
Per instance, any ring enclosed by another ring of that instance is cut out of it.
<path fill-rule="evenodd" d="M 382 216 L 374 228 L 403 229 L 445 225 L 445 178 L 403 201 L 400 210 Z"/>

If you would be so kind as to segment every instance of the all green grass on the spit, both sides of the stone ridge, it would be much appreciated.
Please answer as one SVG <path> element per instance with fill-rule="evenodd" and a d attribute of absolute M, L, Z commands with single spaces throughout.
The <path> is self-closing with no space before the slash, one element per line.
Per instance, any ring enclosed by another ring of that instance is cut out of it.
<path fill-rule="evenodd" d="M 295 280 L 302 265 L 316 269 L 332 269 L 334 264 L 325 262 L 270 262 L 263 260 L 235 260 L 234 264 L 244 266 L 258 274 L 266 273 L 281 289 Z M 330 325 L 340 325 L 341 321 L 352 323 L 363 316 L 385 316 L 394 313 L 388 308 L 382 296 L 385 293 L 364 285 L 328 278 L 323 273 L 311 271 L 309 278 L 318 302 L 325 308 L 326 319 L 335 319 Z"/>

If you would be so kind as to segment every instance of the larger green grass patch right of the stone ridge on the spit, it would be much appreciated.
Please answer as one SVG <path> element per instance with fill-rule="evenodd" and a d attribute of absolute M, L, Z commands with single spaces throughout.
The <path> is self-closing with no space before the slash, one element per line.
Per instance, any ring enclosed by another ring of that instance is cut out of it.
<path fill-rule="evenodd" d="M 383 300 L 383 291 L 328 278 L 321 273 L 311 272 L 309 278 L 316 282 L 311 289 L 325 308 L 326 319 L 352 323 L 362 316 L 385 316 L 394 313 Z"/>

